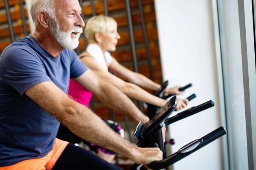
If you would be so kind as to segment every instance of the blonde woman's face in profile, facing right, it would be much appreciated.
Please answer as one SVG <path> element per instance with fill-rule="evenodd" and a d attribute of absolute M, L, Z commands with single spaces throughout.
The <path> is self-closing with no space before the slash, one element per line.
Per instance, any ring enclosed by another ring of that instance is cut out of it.
<path fill-rule="evenodd" d="M 117 28 L 110 29 L 102 35 L 101 46 L 106 51 L 116 51 L 116 44 L 119 39 L 120 35 L 117 32 Z"/>

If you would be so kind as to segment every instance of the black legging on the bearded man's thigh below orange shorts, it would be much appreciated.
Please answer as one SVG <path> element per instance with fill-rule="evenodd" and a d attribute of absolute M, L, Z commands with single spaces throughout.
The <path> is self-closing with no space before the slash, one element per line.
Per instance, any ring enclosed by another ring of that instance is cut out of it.
<path fill-rule="evenodd" d="M 52 170 L 122 170 L 84 148 L 68 144 Z"/>

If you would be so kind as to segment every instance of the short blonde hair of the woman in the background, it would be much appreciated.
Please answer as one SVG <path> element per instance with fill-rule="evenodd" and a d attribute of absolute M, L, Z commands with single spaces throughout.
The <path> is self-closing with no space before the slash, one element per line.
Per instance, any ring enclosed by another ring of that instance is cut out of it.
<path fill-rule="evenodd" d="M 91 17 L 85 26 L 85 36 L 90 43 L 96 43 L 95 33 L 104 34 L 117 27 L 116 21 L 107 16 L 98 15 Z"/>

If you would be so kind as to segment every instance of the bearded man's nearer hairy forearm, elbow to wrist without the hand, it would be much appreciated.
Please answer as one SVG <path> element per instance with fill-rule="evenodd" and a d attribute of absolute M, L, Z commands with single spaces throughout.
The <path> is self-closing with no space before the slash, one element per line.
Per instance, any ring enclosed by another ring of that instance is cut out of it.
<path fill-rule="evenodd" d="M 73 133 L 93 144 L 128 158 L 132 157 L 131 150 L 134 150 L 135 146 L 114 132 L 89 108 L 75 101 L 65 102 L 65 108 L 64 113 L 60 113 L 59 116 L 55 114 L 55 116 Z"/>

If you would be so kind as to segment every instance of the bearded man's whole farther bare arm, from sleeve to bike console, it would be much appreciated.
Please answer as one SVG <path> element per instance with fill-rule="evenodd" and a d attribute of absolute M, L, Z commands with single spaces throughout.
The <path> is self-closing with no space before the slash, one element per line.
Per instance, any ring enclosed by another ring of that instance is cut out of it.
<path fill-rule="evenodd" d="M 74 80 L 95 94 L 105 105 L 125 114 L 135 122 L 145 123 L 149 120 L 125 94 L 100 79 L 90 69 Z"/>

